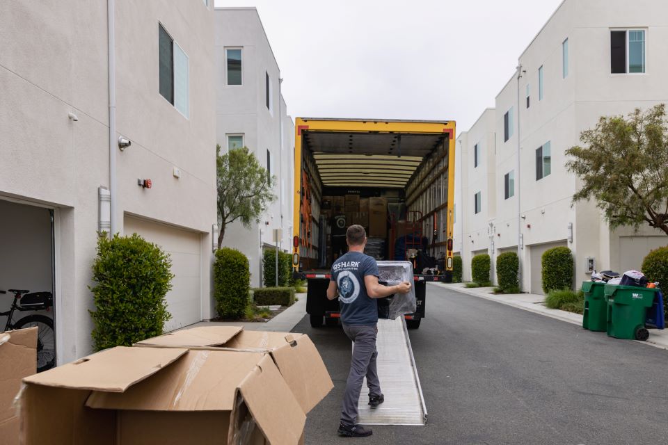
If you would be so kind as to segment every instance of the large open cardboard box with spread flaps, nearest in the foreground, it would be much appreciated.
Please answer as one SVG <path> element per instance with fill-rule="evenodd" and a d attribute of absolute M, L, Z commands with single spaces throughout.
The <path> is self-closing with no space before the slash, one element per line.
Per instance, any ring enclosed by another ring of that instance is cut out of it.
<path fill-rule="evenodd" d="M 117 347 L 24 379 L 26 445 L 299 444 L 305 414 L 269 355 Z"/>

